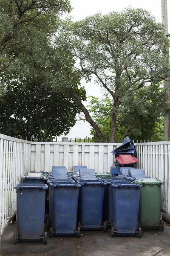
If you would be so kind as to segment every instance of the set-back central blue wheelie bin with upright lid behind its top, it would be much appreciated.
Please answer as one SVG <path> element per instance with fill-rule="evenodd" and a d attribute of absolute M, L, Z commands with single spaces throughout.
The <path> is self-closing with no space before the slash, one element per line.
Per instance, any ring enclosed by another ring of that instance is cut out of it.
<path fill-rule="evenodd" d="M 96 177 L 94 169 L 80 169 L 79 177 L 75 180 L 81 185 L 78 226 L 82 230 L 100 230 L 102 228 L 106 231 L 106 222 L 102 222 L 106 183 Z"/>

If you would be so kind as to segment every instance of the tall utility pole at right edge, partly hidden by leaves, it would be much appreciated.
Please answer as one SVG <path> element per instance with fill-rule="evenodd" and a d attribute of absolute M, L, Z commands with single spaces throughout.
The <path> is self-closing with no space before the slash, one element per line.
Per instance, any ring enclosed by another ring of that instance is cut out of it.
<path fill-rule="evenodd" d="M 162 23 L 164 24 L 165 35 L 170 36 L 170 34 L 168 33 L 167 0 L 161 0 L 161 9 L 162 9 Z M 169 49 L 168 49 L 168 53 L 169 53 Z M 167 96 L 168 96 L 168 99 L 165 103 L 164 140 L 170 140 L 170 77 L 167 77 L 167 79 L 164 80 L 164 90 L 167 91 Z"/>

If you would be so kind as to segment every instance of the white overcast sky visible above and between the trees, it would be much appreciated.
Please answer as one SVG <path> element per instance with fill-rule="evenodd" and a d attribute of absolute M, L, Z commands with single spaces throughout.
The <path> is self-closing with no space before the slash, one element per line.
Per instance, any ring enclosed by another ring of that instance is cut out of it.
<path fill-rule="evenodd" d="M 132 8 L 142 8 L 149 11 L 152 15 L 156 17 L 158 22 L 161 22 L 161 0 L 71 0 L 71 6 L 73 11 L 71 16 L 74 20 L 82 20 L 89 15 L 94 15 L 95 13 L 101 12 L 106 14 L 109 12 L 119 12 L 122 11 L 125 7 Z M 170 14 L 170 0 L 167 0 L 168 11 Z M 168 20 L 169 32 L 170 32 L 170 15 Z M 99 87 L 94 83 L 86 84 L 85 81 L 82 81 L 82 85 L 85 86 L 87 96 L 93 95 L 96 97 L 101 97 Z M 86 102 L 84 102 L 87 105 Z M 69 138 L 85 138 L 90 136 L 90 125 L 88 122 L 78 121 L 77 124 L 71 128 L 70 133 L 66 136 Z M 64 136 L 62 136 L 64 137 Z"/>

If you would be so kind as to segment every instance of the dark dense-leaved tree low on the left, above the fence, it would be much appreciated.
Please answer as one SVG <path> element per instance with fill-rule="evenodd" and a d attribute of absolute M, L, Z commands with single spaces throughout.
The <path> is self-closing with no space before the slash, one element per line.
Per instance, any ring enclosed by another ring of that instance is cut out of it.
<path fill-rule="evenodd" d="M 0 113 L 0 133 L 46 140 L 66 135 L 75 125 L 79 108 L 59 90 L 45 90 L 36 81 L 27 85 L 13 82 L 0 104 Z"/>

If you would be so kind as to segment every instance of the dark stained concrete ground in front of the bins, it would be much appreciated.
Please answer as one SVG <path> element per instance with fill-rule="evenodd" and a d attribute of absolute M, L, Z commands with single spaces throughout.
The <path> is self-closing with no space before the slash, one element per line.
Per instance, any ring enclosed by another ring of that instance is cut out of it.
<path fill-rule="evenodd" d="M 1 236 L 1 255 L 5 256 L 170 256 L 170 227 L 164 231 L 142 230 L 142 238 L 116 236 L 111 230 L 81 231 L 81 237 L 53 237 L 47 244 L 14 244 L 17 223 Z"/>

